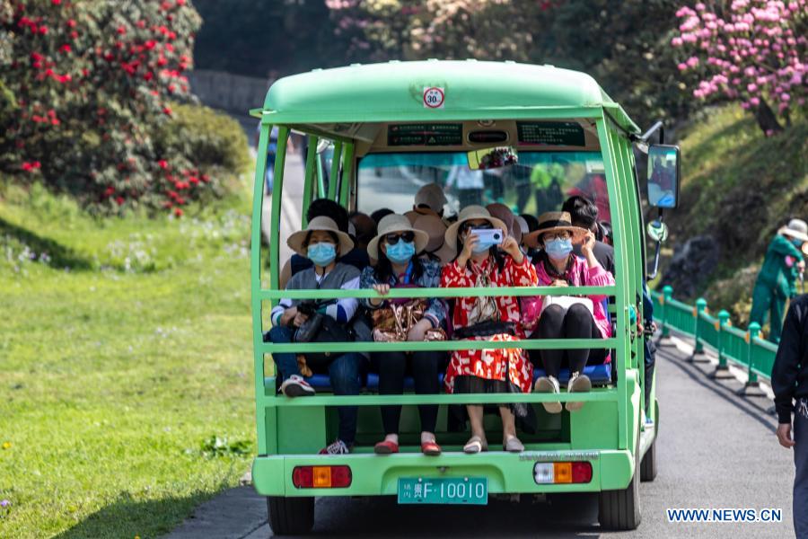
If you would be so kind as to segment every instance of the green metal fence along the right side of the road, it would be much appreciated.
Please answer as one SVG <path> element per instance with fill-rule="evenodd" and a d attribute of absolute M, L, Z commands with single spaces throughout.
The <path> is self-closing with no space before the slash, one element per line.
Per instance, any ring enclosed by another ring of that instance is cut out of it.
<path fill-rule="evenodd" d="M 673 299 L 673 288 L 663 287 L 662 293 L 652 292 L 654 319 L 663 331 L 679 331 L 694 341 L 694 352 L 707 346 L 718 354 L 718 368 L 726 369 L 728 362 L 746 369 L 747 384 L 756 384 L 758 376 L 771 379 L 777 345 L 759 337 L 760 325 L 751 323 L 746 331 L 733 328 L 729 313 L 721 311 L 717 317 L 710 314 L 707 300 L 699 298 L 696 305 L 687 305 Z"/>

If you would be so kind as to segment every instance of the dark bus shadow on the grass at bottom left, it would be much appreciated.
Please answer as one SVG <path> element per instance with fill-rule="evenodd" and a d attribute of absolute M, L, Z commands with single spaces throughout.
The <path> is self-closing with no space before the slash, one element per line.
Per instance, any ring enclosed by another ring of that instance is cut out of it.
<path fill-rule="evenodd" d="M 156 537 L 168 534 L 194 508 L 215 496 L 215 493 L 194 493 L 184 498 L 136 500 L 128 492 L 92 513 L 54 539 L 89 539 L 105 537 Z"/>

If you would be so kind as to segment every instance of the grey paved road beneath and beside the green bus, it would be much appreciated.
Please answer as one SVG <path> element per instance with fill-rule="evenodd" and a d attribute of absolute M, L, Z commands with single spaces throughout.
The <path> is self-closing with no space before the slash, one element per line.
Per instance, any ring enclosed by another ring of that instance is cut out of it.
<path fill-rule="evenodd" d="M 603 533 L 597 499 L 558 504 L 493 500 L 487 507 L 400 507 L 394 499 L 317 500 L 313 535 L 390 537 L 788 537 L 793 536 L 793 455 L 777 445 L 767 397 L 741 399 L 737 379 L 716 381 L 711 364 L 686 361 L 689 349 L 664 347 L 658 357 L 661 407 L 659 475 L 642 483 L 643 523 L 632 533 Z M 666 508 L 781 508 L 779 524 L 672 524 Z M 171 539 L 271 535 L 263 499 L 249 487 L 198 509 Z"/>

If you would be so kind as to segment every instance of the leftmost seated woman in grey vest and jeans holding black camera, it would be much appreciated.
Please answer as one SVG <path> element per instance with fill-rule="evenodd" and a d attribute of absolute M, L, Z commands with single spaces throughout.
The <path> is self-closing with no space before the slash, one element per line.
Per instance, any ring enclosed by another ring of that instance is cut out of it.
<path fill-rule="evenodd" d="M 337 224 L 329 217 L 314 217 L 305 230 L 289 236 L 286 242 L 294 252 L 313 262 L 312 268 L 299 271 L 286 286 L 287 290 L 314 289 L 356 289 L 359 287 L 359 270 L 337 261 L 340 253 L 354 247 L 347 234 L 340 232 Z M 308 316 L 298 310 L 302 300 L 282 299 L 272 309 L 270 315 L 272 329 L 268 338 L 274 343 L 289 343 L 294 340 L 294 331 L 308 320 Z M 369 340 L 370 331 L 361 317 L 356 317 L 359 302 L 356 298 L 343 298 L 321 305 L 318 312 L 330 316 L 341 324 L 350 325 L 356 333 L 356 340 Z M 273 354 L 277 374 L 283 380 L 281 393 L 287 397 L 303 397 L 314 394 L 314 388 L 303 379 L 297 357 L 294 353 Z M 317 365 L 307 362 L 313 372 L 327 372 L 331 388 L 338 395 L 359 394 L 359 371 L 364 356 L 349 352 L 340 356 L 330 356 L 328 364 Z M 338 439 L 324 448 L 321 453 L 345 455 L 350 451 L 356 436 L 356 406 L 338 407 Z"/>

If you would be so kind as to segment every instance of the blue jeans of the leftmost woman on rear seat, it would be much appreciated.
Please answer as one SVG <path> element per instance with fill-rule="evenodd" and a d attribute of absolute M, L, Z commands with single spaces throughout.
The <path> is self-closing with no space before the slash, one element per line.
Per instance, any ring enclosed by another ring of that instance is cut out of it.
<path fill-rule="evenodd" d="M 275 326 L 269 330 L 269 340 L 275 344 L 292 342 L 294 331 L 285 326 Z M 295 354 L 273 354 L 277 367 L 277 374 L 282 381 L 289 376 L 301 376 L 300 368 L 297 367 L 297 356 Z M 356 352 L 348 352 L 342 356 L 337 356 L 329 363 L 329 380 L 331 389 L 336 395 L 358 395 L 361 385 L 359 384 L 359 370 L 365 361 L 364 356 Z M 356 438 L 356 417 L 359 408 L 356 406 L 338 406 L 339 433 L 340 440 L 347 446 L 351 446 Z"/>

